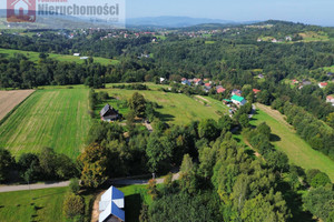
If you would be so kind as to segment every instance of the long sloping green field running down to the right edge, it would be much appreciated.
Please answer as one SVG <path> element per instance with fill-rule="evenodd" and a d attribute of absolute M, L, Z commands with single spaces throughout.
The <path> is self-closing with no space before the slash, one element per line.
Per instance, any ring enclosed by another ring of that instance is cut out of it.
<path fill-rule="evenodd" d="M 284 151 L 289 161 L 304 169 L 318 169 L 328 174 L 334 181 L 334 161 L 323 153 L 313 150 L 302 138 L 299 138 L 284 117 L 268 107 L 257 104 L 257 114 L 250 121 L 258 125 L 266 122 L 272 128 L 272 133 L 277 135 L 273 144 Z"/>

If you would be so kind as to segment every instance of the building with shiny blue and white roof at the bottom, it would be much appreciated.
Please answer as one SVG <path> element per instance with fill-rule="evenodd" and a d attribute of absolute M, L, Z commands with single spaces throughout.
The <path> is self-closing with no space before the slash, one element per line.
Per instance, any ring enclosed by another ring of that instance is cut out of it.
<path fill-rule="evenodd" d="M 101 196 L 99 202 L 99 222 L 125 221 L 124 193 L 115 186 L 110 186 Z"/>

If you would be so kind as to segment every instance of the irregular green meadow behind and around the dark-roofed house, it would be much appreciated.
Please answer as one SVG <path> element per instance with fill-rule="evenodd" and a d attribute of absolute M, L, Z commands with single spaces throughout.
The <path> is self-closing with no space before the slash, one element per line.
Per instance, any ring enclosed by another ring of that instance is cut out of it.
<path fill-rule="evenodd" d="M 175 124 L 187 124 L 193 120 L 215 119 L 220 118 L 220 113 L 228 113 L 228 108 L 222 102 L 203 97 L 198 99 L 195 97 L 187 97 L 181 93 L 169 93 L 159 91 L 159 87 L 149 85 L 150 90 L 137 91 L 141 93 L 146 100 L 157 102 L 161 108 L 156 109 L 159 118 L 163 121 Z M 116 105 L 117 100 L 128 100 L 136 90 L 125 89 L 104 89 L 114 100 L 109 100 L 110 105 Z M 126 110 L 125 110 L 126 112 Z M 220 113 L 219 113 L 220 112 Z M 126 114 L 126 113 L 122 113 Z"/>

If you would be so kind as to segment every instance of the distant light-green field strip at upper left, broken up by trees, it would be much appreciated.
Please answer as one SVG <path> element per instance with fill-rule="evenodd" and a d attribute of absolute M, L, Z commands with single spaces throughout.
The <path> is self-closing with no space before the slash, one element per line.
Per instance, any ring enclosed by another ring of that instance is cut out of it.
<path fill-rule="evenodd" d="M 13 50 L 13 49 L 0 49 L 0 54 L 4 54 L 6 57 L 12 57 L 14 53 L 21 53 L 24 54 L 30 61 L 38 62 L 39 61 L 39 52 L 32 52 L 32 51 L 22 51 L 22 50 Z M 56 59 L 58 61 L 62 62 L 77 62 L 77 63 L 84 63 L 85 60 L 80 59 L 80 57 L 69 56 L 69 54 L 56 54 L 56 53 L 48 53 L 49 58 Z M 82 56 L 85 57 L 85 56 Z M 94 57 L 94 61 L 108 65 L 108 64 L 117 64 L 118 60 L 111 60 L 100 57 Z"/>

